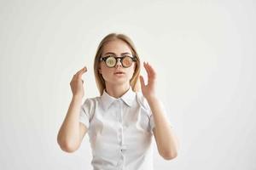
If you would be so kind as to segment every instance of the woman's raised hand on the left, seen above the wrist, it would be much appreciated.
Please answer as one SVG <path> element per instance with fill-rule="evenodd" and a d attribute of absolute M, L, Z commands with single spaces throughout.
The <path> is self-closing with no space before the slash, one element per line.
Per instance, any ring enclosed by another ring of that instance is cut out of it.
<path fill-rule="evenodd" d="M 73 78 L 70 82 L 73 97 L 80 97 L 80 98 L 84 97 L 84 88 L 83 88 L 84 81 L 82 80 L 82 76 L 86 71 L 87 71 L 87 68 L 86 66 L 84 66 L 84 68 L 82 68 L 75 75 L 73 75 Z"/>

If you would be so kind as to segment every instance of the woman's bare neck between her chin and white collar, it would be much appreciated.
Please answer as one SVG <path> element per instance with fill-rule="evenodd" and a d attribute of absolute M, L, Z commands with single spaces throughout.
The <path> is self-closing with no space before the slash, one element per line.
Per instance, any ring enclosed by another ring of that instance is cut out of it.
<path fill-rule="evenodd" d="M 112 97 L 118 99 L 122 95 L 124 95 L 130 88 L 129 83 L 125 84 L 108 84 L 106 82 L 106 91 Z"/>

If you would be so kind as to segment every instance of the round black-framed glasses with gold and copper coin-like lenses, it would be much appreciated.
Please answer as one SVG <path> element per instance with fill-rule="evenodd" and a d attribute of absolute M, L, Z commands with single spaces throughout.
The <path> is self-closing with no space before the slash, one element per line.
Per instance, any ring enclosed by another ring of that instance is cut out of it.
<path fill-rule="evenodd" d="M 120 60 L 121 65 L 125 68 L 130 67 L 132 65 L 132 62 L 137 61 L 135 57 L 131 57 L 130 55 L 124 55 L 122 57 L 115 57 L 115 55 L 108 55 L 106 57 L 102 57 L 100 60 L 101 61 L 103 60 L 109 68 L 112 68 L 117 64 L 118 59 Z"/>

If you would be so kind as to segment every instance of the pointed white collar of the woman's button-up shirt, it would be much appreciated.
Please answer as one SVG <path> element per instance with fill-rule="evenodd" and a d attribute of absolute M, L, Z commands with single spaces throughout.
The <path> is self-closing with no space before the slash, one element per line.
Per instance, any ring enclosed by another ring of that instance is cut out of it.
<path fill-rule="evenodd" d="M 136 96 L 136 94 L 135 94 L 135 92 L 132 91 L 132 88 L 130 86 L 128 91 L 125 92 L 125 94 L 123 94 L 118 99 L 122 99 L 125 102 L 126 105 L 131 107 L 132 102 L 133 102 L 135 96 Z M 113 96 L 109 95 L 106 92 L 106 89 L 103 90 L 103 94 L 101 96 L 101 99 L 102 99 L 102 105 L 104 107 L 104 110 L 107 110 L 108 107 L 113 103 L 113 101 L 118 100 L 118 99 L 114 98 Z"/>

